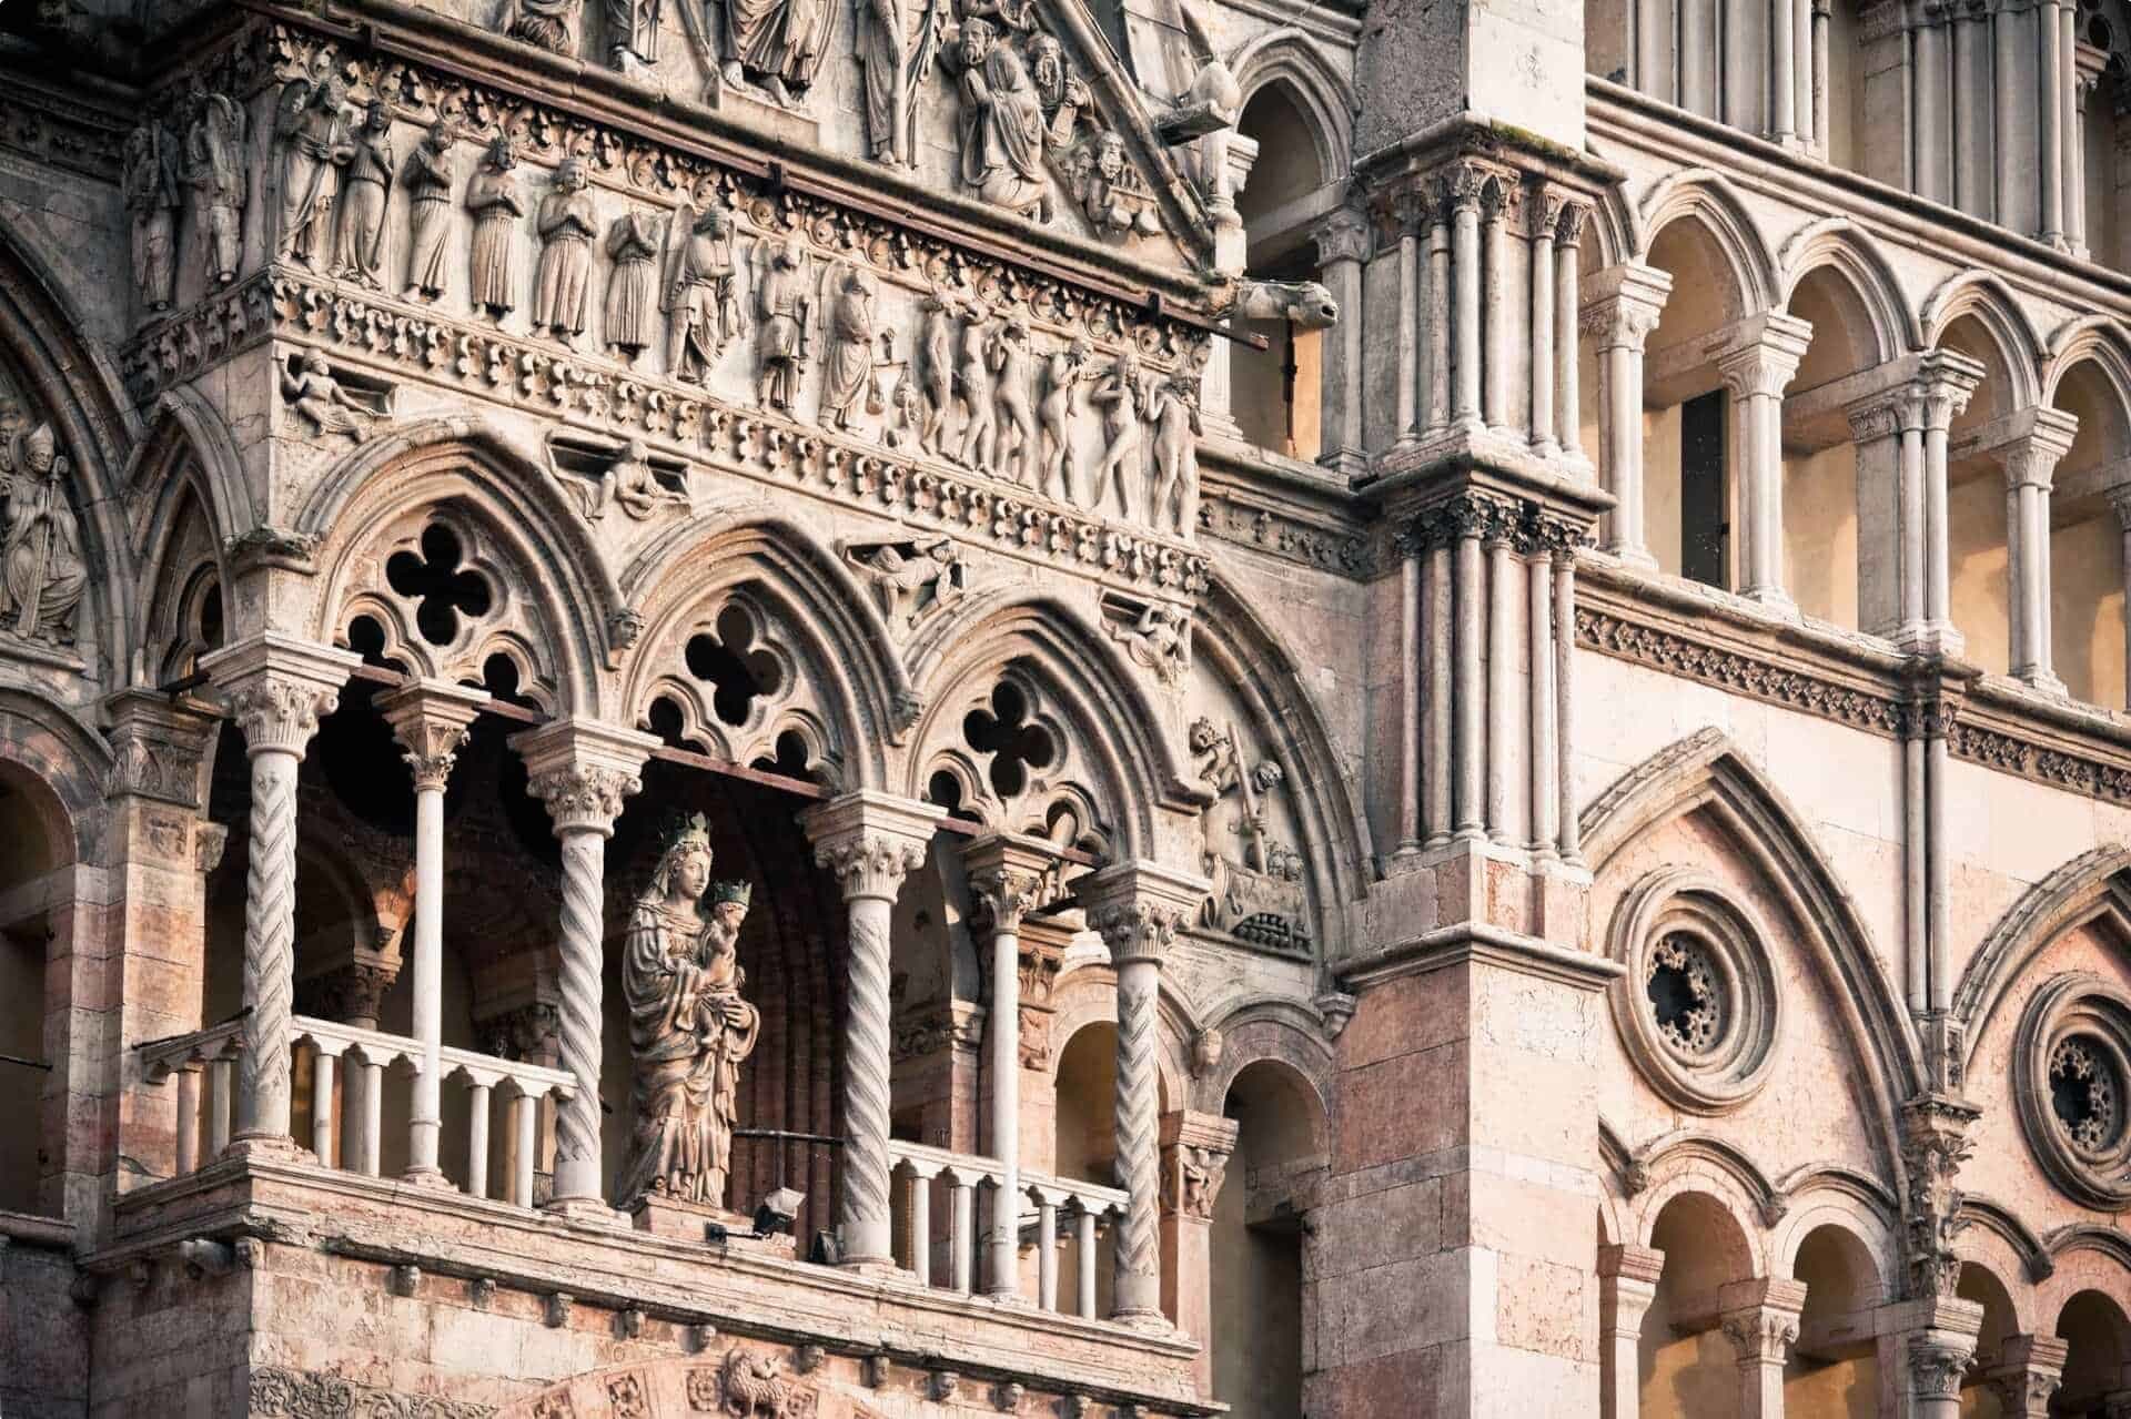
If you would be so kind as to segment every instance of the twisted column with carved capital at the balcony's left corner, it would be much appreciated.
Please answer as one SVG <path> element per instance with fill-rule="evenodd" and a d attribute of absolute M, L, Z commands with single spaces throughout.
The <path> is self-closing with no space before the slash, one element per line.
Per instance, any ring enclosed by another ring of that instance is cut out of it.
<path fill-rule="evenodd" d="M 273 631 L 200 660 L 251 759 L 245 876 L 245 1023 L 232 1153 L 294 1153 L 290 1018 L 296 997 L 296 767 L 360 656 Z"/>

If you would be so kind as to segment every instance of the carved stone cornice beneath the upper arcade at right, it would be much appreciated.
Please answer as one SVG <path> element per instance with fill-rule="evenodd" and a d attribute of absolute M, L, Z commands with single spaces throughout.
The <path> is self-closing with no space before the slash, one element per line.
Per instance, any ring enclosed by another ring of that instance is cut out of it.
<path fill-rule="evenodd" d="M 1692 592 L 1592 558 L 1581 560 L 1581 571 L 1583 650 L 1888 739 L 1943 733 L 1954 759 L 2131 803 L 2131 724 L 2105 710 L 2046 699 L 1956 665 L 1948 667 L 1948 686 L 1920 695 L 1914 671 L 1862 637 L 1758 624 L 1745 611 L 1720 609 L 1713 592 L 1705 592 L 1707 609 L 1666 605 Z"/>

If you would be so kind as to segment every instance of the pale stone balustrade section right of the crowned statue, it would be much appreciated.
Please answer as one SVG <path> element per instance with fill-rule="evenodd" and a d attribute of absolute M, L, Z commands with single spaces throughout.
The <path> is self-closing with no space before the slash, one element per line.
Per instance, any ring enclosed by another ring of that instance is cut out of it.
<path fill-rule="evenodd" d="M 999 1159 L 967 1153 L 948 1153 L 925 1144 L 891 1142 L 889 1159 L 895 1176 L 895 1214 L 899 1219 L 899 1244 L 895 1263 L 912 1272 L 921 1285 L 933 1283 L 933 1242 L 938 1229 L 931 1219 L 931 1191 L 936 1180 L 948 1189 L 948 1274 L 944 1289 L 967 1295 L 976 1283 L 978 1234 L 976 1193 L 993 1195 L 1006 1187 L 1006 1168 Z M 1014 1234 L 1023 1244 L 1036 1246 L 1036 1304 L 1042 1310 L 1068 1310 L 1080 1319 L 1095 1319 L 1095 1238 L 1115 1217 L 1123 1217 L 1129 1195 L 1121 1187 L 1102 1187 L 1068 1178 L 1048 1178 L 1029 1170 L 1016 1170 L 1014 1195 L 1025 1204 L 1016 1208 Z M 1059 1219 L 1072 1219 L 1072 1234 L 1059 1234 Z M 1074 1272 L 1078 1276 L 1072 1306 L 1059 1304 L 1059 1255 L 1072 1246 Z M 995 1287 L 999 1291 L 999 1287 Z M 1006 1289 L 1019 1295 L 1019 1278 Z"/>

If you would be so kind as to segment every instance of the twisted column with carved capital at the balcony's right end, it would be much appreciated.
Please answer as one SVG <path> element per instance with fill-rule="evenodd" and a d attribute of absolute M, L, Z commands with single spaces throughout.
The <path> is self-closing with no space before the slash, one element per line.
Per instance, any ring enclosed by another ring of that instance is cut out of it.
<path fill-rule="evenodd" d="M 1074 882 L 1087 925 L 1117 969 L 1117 1174 L 1129 1202 L 1117 1225 L 1115 1319 L 1161 1325 L 1159 1035 L 1161 955 L 1206 899 L 1208 882 L 1155 863 L 1119 863 Z"/>

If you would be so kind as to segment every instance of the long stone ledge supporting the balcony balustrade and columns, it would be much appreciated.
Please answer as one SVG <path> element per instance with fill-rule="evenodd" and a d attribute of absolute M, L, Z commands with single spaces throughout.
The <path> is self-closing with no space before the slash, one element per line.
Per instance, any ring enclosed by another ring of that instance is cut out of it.
<path fill-rule="evenodd" d="M 117 1202 L 115 1238 L 83 1257 L 111 1274 L 166 1257 L 181 1240 L 254 1236 L 377 1266 L 484 1278 L 580 1306 L 641 1310 L 733 1336 L 884 1353 L 965 1376 L 1023 1379 L 1159 1408 L 1215 1415 L 1195 1398 L 1198 1342 L 1106 1321 L 861 1276 L 759 1251 L 682 1242 L 528 1212 L 456 1191 L 407 1187 L 307 1161 L 222 1159 Z M 381 1285 L 381 1283 L 379 1283 Z"/>

